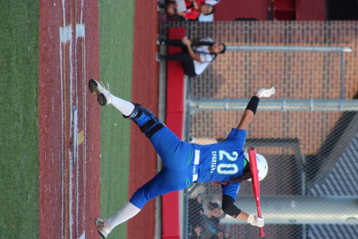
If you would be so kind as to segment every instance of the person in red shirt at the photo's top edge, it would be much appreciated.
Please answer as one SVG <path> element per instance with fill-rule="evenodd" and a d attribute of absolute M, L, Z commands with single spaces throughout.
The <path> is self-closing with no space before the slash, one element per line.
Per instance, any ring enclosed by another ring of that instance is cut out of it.
<path fill-rule="evenodd" d="M 188 20 L 197 20 L 200 13 L 209 15 L 215 11 L 213 5 L 205 4 L 205 0 L 185 0 L 187 10 L 181 12 L 177 11 L 175 1 L 167 1 L 166 3 L 166 14 L 168 16 L 179 16 Z"/>

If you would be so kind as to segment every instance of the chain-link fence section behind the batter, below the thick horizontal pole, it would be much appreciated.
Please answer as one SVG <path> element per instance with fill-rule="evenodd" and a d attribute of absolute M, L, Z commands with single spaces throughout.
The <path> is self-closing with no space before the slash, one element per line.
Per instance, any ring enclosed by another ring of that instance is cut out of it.
<path fill-rule="evenodd" d="M 214 125 L 229 130 L 230 119 L 240 120 L 242 111 L 192 111 L 188 116 L 189 135 L 193 143 L 207 144 L 224 140 L 223 133 L 212 131 Z M 282 128 L 303 130 L 303 138 L 254 138 L 253 127 L 248 130 L 246 147 L 255 146 L 269 163 L 269 173 L 260 182 L 261 210 L 265 216 L 265 238 L 357 238 L 358 235 L 358 115 L 355 112 L 321 113 L 316 125 L 297 125 L 291 121 L 312 117 L 316 112 L 284 112 L 279 117 L 270 112 L 269 120 Z M 327 132 L 322 143 L 311 131 L 323 119 L 335 120 L 334 128 Z M 219 116 L 220 115 L 220 116 Z M 214 119 L 217 118 L 217 119 Z M 265 121 L 265 118 L 259 119 Z M 272 125 L 255 125 L 261 131 L 271 131 Z M 205 127 L 202 127 L 205 125 Z M 275 127 L 275 126 L 273 126 Z M 271 129 L 270 129 L 271 128 Z M 258 135 L 260 137 L 260 135 Z M 303 145 L 306 149 L 303 149 Z M 312 147 L 309 145 L 312 144 Z M 316 147 L 317 146 L 317 147 Z M 306 152 L 305 154 L 303 152 Z M 311 151 L 311 153 L 309 153 Z M 313 152 L 315 151 L 315 153 Z M 208 183 L 192 185 L 184 193 L 184 237 L 197 238 L 200 226 L 202 238 L 220 237 L 227 231 L 231 238 L 258 238 L 258 229 L 226 215 L 212 214 L 221 210 L 221 187 Z M 251 182 L 242 182 L 235 205 L 250 214 L 256 214 Z M 213 216 L 214 215 L 214 216 Z M 195 228 L 196 231 L 195 231 Z M 224 232 L 222 232 L 224 230 Z M 216 237 L 217 236 L 217 237 Z"/>

